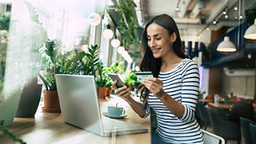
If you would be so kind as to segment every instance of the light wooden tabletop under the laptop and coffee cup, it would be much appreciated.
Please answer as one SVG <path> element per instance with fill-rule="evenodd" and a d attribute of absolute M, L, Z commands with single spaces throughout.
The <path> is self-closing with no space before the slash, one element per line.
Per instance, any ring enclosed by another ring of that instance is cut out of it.
<path fill-rule="evenodd" d="M 136 98 L 137 99 L 137 98 Z M 147 133 L 131 134 L 125 136 L 102 137 L 84 131 L 80 128 L 74 127 L 64 123 L 61 114 L 42 113 L 40 107 L 35 114 L 35 118 L 15 118 L 13 125 L 8 127 L 8 131 L 13 132 L 15 136 L 23 139 L 28 144 L 62 144 L 62 143 L 86 143 L 86 144 L 137 144 L 137 143 L 151 143 L 150 137 L 150 117 L 142 119 L 131 109 L 131 107 L 120 98 L 111 96 L 109 99 L 100 99 L 101 112 L 107 111 L 108 105 L 115 105 L 125 108 L 128 115 L 122 121 L 141 125 L 148 128 Z M 0 143 L 13 143 L 7 136 L 3 136 L 0 132 Z"/>

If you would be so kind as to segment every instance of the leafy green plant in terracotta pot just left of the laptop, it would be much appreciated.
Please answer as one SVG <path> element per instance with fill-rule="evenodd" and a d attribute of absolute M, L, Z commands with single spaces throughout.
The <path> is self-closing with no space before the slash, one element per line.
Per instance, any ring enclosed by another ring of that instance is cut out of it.
<path fill-rule="evenodd" d="M 41 67 L 39 75 L 45 84 L 43 112 L 61 112 L 58 93 L 56 89 L 55 74 L 77 74 L 77 61 L 85 56 L 85 52 L 76 50 L 61 54 L 60 40 L 47 40 L 42 50 Z"/>

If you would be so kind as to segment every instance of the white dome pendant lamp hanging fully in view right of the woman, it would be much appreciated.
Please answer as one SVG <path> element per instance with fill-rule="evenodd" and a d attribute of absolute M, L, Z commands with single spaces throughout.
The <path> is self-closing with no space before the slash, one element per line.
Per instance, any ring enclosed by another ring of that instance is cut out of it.
<path fill-rule="evenodd" d="M 229 40 L 228 36 L 224 37 L 224 40 L 217 47 L 217 51 L 220 52 L 234 52 L 237 51 L 236 46 Z"/>

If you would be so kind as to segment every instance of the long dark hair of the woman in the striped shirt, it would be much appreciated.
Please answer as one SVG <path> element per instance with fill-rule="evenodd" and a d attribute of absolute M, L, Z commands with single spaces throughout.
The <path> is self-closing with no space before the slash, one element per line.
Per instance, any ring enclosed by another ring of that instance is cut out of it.
<path fill-rule="evenodd" d="M 147 45 L 147 27 L 153 23 L 167 29 L 169 35 L 172 35 L 174 32 L 177 36 L 177 40 L 173 42 L 174 53 L 181 58 L 187 58 L 187 56 L 184 55 L 184 51 L 181 47 L 182 43 L 179 36 L 179 29 L 172 17 L 170 17 L 168 14 L 161 14 L 149 20 L 142 34 L 141 49 L 144 51 L 144 56 L 142 58 L 140 68 L 142 72 L 149 71 L 152 72 L 154 77 L 158 77 L 160 68 L 162 66 L 162 59 L 161 57 L 154 58 L 152 51 Z"/>

